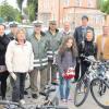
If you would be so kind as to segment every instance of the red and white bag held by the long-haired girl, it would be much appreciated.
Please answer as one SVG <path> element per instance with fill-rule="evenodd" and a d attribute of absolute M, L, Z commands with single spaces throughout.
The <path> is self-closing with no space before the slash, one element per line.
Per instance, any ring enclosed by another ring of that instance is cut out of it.
<path fill-rule="evenodd" d="M 75 68 L 69 68 L 66 72 L 64 72 L 63 77 L 65 80 L 71 80 L 75 77 Z"/>

